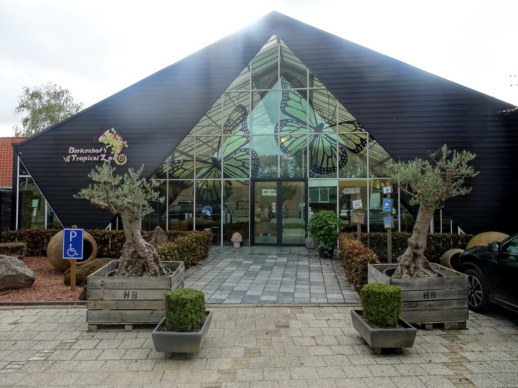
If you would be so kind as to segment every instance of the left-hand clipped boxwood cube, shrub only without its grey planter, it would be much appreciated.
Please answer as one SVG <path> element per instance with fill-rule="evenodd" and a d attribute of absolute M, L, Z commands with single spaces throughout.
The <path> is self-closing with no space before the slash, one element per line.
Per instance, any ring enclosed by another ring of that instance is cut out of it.
<path fill-rule="evenodd" d="M 166 292 L 165 329 L 170 332 L 199 332 L 205 322 L 205 294 L 192 288 Z"/>

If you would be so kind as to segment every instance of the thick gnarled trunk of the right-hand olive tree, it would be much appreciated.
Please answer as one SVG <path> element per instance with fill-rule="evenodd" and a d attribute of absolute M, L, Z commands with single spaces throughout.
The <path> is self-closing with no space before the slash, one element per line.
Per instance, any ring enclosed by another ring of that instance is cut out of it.
<path fill-rule="evenodd" d="M 437 277 L 438 271 L 430 265 L 430 262 L 424 256 L 426 236 L 434 212 L 435 209 L 426 206 L 419 208 L 413 233 L 408 239 L 407 250 L 397 259 L 399 267 L 392 276 L 393 279 Z"/>

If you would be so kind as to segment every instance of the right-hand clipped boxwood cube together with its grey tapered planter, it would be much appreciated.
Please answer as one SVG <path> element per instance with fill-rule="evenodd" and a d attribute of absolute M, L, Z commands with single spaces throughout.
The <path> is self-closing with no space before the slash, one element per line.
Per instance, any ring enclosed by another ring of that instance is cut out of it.
<path fill-rule="evenodd" d="M 382 349 L 414 345 L 417 329 L 401 319 L 401 288 L 383 283 L 368 283 L 362 288 L 362 310 L 351 310 L 354 329 L 376 353 Z"/>

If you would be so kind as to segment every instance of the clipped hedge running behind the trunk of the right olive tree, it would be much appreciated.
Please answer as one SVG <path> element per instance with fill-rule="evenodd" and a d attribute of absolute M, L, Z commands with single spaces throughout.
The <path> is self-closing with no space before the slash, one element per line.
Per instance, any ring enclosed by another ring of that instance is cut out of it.
<path fill-rule="evenodd" d="M 343 234 L 356 238 L 356 233 Z M 396 262 L 396 259 L 405 252 L 408 246 L 408 238 L 411 235 L 412 233 L 408 232 L 392 232 L 393 262 Z M 466 249 L 466 245 L 471 238 L 473 238 L 472 234 L 428 233 L 425 256 L 430 262 L 439 264 L 444 252 L 454 248 Z M 372 249 L 382 263 L 388 261 L 386 233 L 362 233 L 362 243 Z"/>

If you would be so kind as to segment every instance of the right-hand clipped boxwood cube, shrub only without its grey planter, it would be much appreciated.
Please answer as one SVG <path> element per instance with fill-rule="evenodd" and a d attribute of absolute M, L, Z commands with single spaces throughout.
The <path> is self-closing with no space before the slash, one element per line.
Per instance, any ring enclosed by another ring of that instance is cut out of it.
<path fill-rule="evenodd" d="M 401 314 L 401 287 L 369 283 L 362 289 L 363 319 L 381 327 L 396 327 Z"/>

